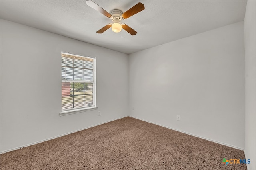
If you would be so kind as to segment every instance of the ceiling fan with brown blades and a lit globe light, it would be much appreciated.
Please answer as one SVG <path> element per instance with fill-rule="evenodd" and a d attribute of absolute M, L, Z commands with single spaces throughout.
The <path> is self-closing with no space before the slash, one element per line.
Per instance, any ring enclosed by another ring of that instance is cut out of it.
<path fill-rule="evenodd" d="M 102 29 L 98 30 L 97 33 L 104 33 L 107 29 L 111 27 L 112 31 L 114 31 L 115 33 L 119 33 L 123 28 L 125 31 L 127 31 L 131 35 L 135 35 L 137 32 L 134 29 L 132 29 L 131 27 L 129 27 L 124 23 L 120 23 L 120 21 L 125 20 L 130 16 L 133 16 L 134 14 L 137 14 L 138 12 L 145 9 L 144 5 L 139 2 L 138 4 L 134 5 L 132 8 L 130 8 L 124 13 L 122 13 L 122 11 L 117 9 L 114 9 L 110 13 L 108 13 L 106 10 L 98 6 L 92 0 L 87 0 L 86 4 L 92 7 L 94 10 L 97 10 L 104 16 L 110 18 L 113 21 L 113 23 L 109 23 L 108 25 L 104 26 Z"/>

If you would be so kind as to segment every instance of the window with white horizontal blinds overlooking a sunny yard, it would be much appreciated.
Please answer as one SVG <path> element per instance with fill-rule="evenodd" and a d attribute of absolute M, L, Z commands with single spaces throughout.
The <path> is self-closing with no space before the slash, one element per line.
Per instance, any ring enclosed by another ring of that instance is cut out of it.
<path fill-rule="evenodd" d="M 61 53 L 62 113 L 96 107 L 96 59 Z"/>

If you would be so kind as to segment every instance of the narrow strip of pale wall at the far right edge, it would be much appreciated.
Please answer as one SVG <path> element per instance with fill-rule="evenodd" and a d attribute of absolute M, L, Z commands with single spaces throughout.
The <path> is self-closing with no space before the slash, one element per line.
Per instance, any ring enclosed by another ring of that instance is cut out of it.
<path fill-rule="evenodd" d="M 248 0 L 244 18 L 245 49 L 245 156 L 252 160 L 248 170 L 256 169 L 256 12 L 255 1 Z"/>

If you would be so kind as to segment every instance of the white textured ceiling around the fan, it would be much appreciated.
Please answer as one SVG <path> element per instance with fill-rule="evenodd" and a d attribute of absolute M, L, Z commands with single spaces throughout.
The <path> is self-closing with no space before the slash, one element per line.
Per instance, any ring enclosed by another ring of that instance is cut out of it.
<path fill-rule="evenodd" d="M 138 2 L 145 10 L 122 20 L 138 33 L 134 36 L 111 28 L 96 33 L 112 20 L 86 5 L 85 0 L 0 1 L 1 18 L 73 39 L 130 54 L 211 29 L 244 21 L 246 2 L 240 0 L 94 0 L 110 12 L 125 12 Z"/>

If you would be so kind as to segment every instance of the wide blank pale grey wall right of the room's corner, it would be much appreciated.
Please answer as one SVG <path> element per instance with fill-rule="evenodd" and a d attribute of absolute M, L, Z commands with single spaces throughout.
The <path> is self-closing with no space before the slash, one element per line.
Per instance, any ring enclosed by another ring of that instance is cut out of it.
<path fill-rule="evenodd" d="M 132 117 L 244 149 L 243 22 L 132 53 L 128 70 Z"/>

